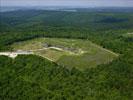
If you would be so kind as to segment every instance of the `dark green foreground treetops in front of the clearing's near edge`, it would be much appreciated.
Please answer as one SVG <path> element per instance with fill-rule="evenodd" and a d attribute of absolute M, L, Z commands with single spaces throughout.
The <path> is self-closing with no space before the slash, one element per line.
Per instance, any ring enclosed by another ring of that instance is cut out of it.
<path fill-rule="evenodd" d="M 130 100 L 133 67 L 125 59 L 81 72 L 33 55 L 14 60 L 1 56 L 0 97 L 2 100 Z"/>

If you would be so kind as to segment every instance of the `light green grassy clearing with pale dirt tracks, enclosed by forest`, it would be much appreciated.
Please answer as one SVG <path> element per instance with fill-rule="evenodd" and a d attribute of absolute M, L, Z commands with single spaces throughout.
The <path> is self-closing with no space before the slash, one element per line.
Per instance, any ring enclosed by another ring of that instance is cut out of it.
<path fill-rule="evenodd" d="M 13 49 L 33 51 L 68 68 L 80 70 L 106 64 L 118 54 L 104 49 L 89 40 L 63 38 L 37 38 L 12 45 Z"/>

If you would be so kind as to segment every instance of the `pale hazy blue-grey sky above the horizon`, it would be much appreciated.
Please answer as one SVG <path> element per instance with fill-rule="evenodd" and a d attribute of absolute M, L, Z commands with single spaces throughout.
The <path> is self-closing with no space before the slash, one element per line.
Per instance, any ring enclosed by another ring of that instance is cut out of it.
<path fill-rule="evenodd" d="M 0 0 L 1 6 L 133 7 L 133 0 Z"/>

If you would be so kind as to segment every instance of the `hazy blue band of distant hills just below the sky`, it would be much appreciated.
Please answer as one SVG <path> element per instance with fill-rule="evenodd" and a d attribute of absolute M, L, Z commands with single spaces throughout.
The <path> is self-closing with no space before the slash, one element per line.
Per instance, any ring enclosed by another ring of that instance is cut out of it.
<path fill-rule="evenodd" d="M 15 10 L 52 10 L 67 12 L 133 12 L 133 7 L 69 7 L 69 6 L 32 6 L 32 7 L 1 7 L 0 12 Z"/>

